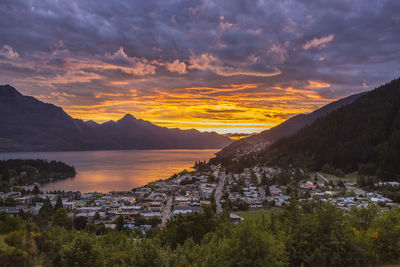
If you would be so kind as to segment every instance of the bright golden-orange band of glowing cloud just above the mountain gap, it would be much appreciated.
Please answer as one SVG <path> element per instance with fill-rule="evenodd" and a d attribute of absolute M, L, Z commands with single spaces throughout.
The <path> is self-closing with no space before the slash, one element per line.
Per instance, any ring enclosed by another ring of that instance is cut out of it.
<path fill-rule="evenodd" d="M 129 112 L 165 127 L 252 133 L 271 128 L 295 114 L 308 113 L 332 100 L 308 89 L 276 87 L 269 92 L 259 86 L 226 84 L 219 88 L 180 88 L 175 92 L 155 90 L 146 96 L 137 95 L 135 90 L 128 94 L 102 93 L 97 95 L 98 99 L 104 98 L 100 104 L 68 106 L 66 110 L 74 117 L 99 122 L 117 120 Z"/>

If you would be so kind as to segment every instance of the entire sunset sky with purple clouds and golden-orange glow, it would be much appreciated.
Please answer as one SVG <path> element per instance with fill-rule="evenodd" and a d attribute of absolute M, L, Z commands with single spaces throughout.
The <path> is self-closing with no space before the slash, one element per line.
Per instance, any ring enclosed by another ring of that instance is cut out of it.
<path fill-rule="evenodd" d="M 253 133 L 400 74 L 400 1 L 2 0 L 0 84 L 104 122 Z"/>

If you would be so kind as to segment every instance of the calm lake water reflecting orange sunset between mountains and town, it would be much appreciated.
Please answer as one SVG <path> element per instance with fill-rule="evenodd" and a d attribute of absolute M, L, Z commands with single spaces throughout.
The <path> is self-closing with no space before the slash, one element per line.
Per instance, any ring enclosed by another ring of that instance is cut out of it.
<path fill-rule="evenodd" d="M 208 160 L 216 149 L 113 150 L 73 152 L 0 153 L 0 159 L 60 160 L 75 167 L 72 179 L 41 187 L 42 191 L 127 191 L 148 182 L 169 178 L 190 169 L 197 160 Z"/>

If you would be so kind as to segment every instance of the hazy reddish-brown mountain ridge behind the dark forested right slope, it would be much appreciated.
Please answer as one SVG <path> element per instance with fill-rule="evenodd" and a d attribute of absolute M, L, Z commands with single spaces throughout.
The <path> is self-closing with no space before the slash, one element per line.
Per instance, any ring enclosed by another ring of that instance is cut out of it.
<path fill-rule="evenodd" d="M 304 126 L 313 123 L 316 119 L 325 116 L 329 112 L 353 103 L 356 99 L 364 94 L 365 92 L 351 95 L 338 101 L 332 102 L 309 114 L 299 114 L 297 116 L 294 116 L 269 130 L 265 130 L 259 134 L 251 135 L 249 137 L 235 141 L 229 146 L 223 148 L 216 155 L 219 158 L 229 158 L 235 155 L 241 155 L 255 150 L 262 150 L 276 140 L 296 133 Z"/>

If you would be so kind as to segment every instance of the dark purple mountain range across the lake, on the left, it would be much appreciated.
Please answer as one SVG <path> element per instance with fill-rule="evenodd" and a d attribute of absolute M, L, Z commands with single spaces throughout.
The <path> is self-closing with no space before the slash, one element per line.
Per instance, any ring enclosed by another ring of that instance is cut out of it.
<path fill-rule="evenodd" d="M 0 86 L 0 151 L 222 148 L 228 137 L 159 127 L 127 114 L 98 124 L 73 119 L 62 108 Z"/>

